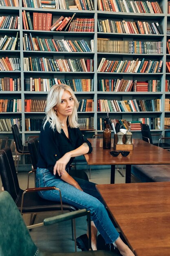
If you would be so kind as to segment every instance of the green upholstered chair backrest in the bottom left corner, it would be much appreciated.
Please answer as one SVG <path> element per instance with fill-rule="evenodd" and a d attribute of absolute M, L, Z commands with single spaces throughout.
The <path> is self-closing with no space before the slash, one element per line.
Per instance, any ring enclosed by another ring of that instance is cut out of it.
<path fill-rule="evenodd" d="M 7 191 L 0 193 L 0 256 L 34 256 L 33 243 L 22 216 Z"/>

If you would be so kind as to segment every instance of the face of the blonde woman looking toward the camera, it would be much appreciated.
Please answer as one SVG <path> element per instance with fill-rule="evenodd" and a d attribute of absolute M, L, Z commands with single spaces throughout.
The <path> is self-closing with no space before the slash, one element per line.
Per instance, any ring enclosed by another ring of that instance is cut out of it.
<path fill-rule="evenodd" d="M 70 92 L 64 91 L 60 105 L 56 108 L 57 116 L 62 119 L 68 117 L 73 113 L 74 99 Z"/>

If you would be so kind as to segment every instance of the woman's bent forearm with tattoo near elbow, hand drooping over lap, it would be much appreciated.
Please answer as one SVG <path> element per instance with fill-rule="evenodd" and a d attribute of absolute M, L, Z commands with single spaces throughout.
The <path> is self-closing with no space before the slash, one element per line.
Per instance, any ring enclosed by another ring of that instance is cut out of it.
<path fill-rule="evenodd" d="M 55 166 L 53 168 L 54 175 L 56 173 L 58 173 L 58 175 L 62 179 L 62 175 L 64 174 L 64 172 L 66 170 L 66 165 L 68 164 L 71 157 L 78 157 L 79 155 L 84 155 L 84 154 L 88 153 L 88 151 L 89 151 L 88 144 L 86 142 L 84 142 L 78 148 L 67 152 L 63 157 L 61 157 L 59 160 L 56 161 Z M 64 180 L 64 181 L 67 182 L 66 180 Z M 69 182 L 67 182 L 67 183 L 69 183 Z"/>

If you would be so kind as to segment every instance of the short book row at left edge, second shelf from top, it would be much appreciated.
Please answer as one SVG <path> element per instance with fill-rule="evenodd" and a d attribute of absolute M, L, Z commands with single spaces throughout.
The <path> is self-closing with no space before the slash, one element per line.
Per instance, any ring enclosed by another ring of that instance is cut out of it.
<path fill-rule="evenodd" d="M 20 17 L 0 16 L 0 29 L 20 29 Z"/>

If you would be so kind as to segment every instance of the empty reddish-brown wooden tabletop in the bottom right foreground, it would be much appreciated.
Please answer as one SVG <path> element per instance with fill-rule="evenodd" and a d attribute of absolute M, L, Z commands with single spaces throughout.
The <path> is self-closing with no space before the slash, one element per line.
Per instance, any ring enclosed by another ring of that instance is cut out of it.
<path fill-rule="evenodd" d="M 170 256 L 170 182 L 96 187 L 136 256 Z"/>

